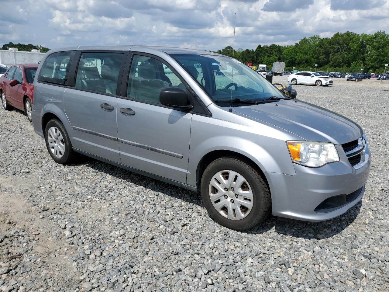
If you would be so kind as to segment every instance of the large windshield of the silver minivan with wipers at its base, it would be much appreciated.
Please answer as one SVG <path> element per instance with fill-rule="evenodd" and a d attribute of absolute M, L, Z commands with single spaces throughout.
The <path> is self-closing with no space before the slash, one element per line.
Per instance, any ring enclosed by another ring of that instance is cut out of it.
<path fill-rule="evenodd" d="M 227 101 L 261 101 L 270 97 L 285 98 L 260 74 L 236 59 L 219 55 L 172 55 L 202 86 L 219 106 L 230 106 Z M 231 90 L 232 89 L 232 90 Z M 226 102 L 223 102 L 223 101 Z"/>

